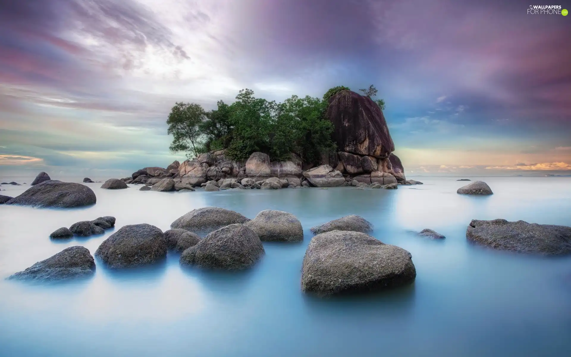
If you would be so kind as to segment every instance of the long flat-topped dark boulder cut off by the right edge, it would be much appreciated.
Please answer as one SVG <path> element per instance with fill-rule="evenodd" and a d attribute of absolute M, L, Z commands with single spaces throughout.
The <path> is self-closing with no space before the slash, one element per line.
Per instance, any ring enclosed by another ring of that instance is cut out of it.
<path fill-rule="evenodd" d="M 571 253 L 571 227 L 528 223 L 523 220 L 473 219 L 466 230 L 471 242 L 521 253 L 561 255 Z"/>

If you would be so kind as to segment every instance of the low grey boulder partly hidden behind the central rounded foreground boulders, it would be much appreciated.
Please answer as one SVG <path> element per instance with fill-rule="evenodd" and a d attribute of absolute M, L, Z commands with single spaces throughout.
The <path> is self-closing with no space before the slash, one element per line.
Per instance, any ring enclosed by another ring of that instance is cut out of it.
<path fill-rule="evenodd" d="M 180 216 L 171 228 L 183 228 L 195 233 L 208 233 L 228 224 L 246 223 L 250 218 L 220 207 L 203 207 Z"/>

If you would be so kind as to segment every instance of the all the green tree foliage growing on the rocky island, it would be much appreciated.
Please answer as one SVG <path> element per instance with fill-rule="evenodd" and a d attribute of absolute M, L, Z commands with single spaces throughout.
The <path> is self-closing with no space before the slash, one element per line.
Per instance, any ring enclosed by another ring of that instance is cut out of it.
<path fill-rule="evenodd" d="M 276 103 L 243 89 L 234 103 L 218 101 L 210 111 L 196 103 L 176 103 L 167 119 L 167 133 L 173 135 L 170 149 L 186 151 L 187 157 L 227 149 L 226 155 L 237 161 L 255 151 L 267 153 L 272 160 L 290 159 L 294 153 L 304 162 L 318 162 L 321 154 L 337 149 L 325 112 L 329 98 L 341 90 L 349 88 L 333 87 L 323 99 L 292 95 Z"/>

